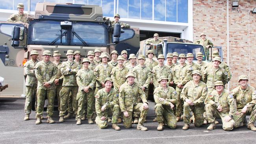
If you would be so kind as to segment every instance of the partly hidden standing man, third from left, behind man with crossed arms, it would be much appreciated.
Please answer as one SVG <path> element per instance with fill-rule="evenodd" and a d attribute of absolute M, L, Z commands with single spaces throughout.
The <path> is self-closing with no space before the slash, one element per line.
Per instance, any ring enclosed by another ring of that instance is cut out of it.
<path fill-rule="evenodd" d="M 60 69 L 61 65 L 62 65 L 62 62 L 60 61 L 61 54 L 59 53 L 58 50 L 56 50 L 56 51 L 53 52 L 52 56 L 54 57 L 54 64 L 58 68 L 57 77 L 54 80 L 54 83 L 56 85 L 56 96 L 57 96 L 57 99 L 58 99 L 58 110 L 60 110 L 60 95 L 59 95 L 59 92 L 62 89 L 62 82 L 63 82 L 63 76 L 61 74 L 61 69 Z"/>

